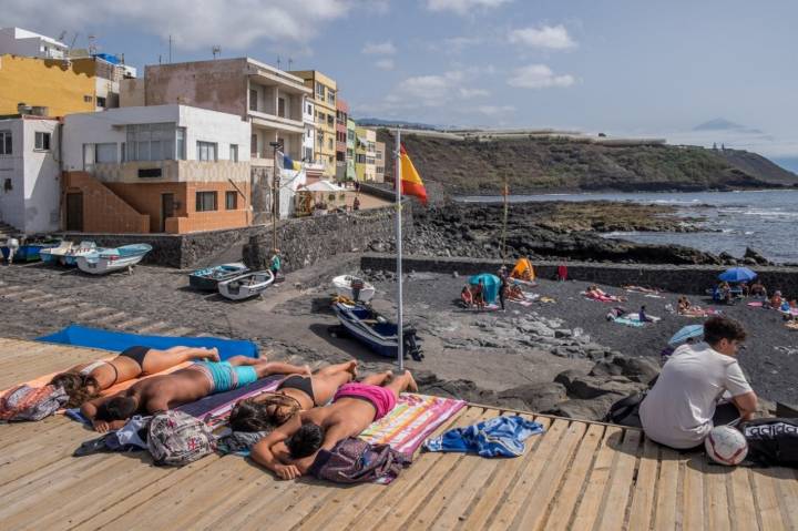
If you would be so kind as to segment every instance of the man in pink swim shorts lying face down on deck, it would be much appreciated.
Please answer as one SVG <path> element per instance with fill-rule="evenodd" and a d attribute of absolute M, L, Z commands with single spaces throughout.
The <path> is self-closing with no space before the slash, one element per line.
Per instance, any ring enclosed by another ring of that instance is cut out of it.
<path fill-rule="evenodd" d="M 323 450 L 359 436 L 396 406 L 399 394 L 418 391 L 409 370 L 371 375 L 360 384 L 346 384 L 331 405 L 301 411 L 252 448 L 252 458 L 280 479 L 295 479 L 311 470 Z"/>

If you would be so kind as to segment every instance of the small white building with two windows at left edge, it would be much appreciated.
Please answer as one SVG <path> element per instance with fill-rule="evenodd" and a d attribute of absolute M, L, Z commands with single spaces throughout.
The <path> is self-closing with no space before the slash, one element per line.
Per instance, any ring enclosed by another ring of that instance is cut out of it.
<path fill-rule="evenodd" d="M 0 222 L 25 234 L 59 228 L 59 122 L 0 120 Z"/>

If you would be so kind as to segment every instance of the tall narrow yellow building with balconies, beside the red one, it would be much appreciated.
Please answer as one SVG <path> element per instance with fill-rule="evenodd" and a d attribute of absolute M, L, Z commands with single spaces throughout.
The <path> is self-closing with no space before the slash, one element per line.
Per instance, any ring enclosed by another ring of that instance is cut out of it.
<path fill-rule="evenodd" d="M 305 86 L 313 90 L 316 109 L 316 142 L 314 159 L 324 163 L 325 177 L 336 176 L 336 98 L 338 84 L 331 78 L 316 70 L 288 72 L 305 80 Z"/>

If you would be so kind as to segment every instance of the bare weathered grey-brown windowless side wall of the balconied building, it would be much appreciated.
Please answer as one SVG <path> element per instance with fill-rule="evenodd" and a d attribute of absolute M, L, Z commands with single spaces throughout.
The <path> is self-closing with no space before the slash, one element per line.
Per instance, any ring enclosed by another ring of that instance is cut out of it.
<path fill-rule="evenodd" d="M 245 116 L 246 59 L 147 65 L 147 105 L 183 103 Z"/>

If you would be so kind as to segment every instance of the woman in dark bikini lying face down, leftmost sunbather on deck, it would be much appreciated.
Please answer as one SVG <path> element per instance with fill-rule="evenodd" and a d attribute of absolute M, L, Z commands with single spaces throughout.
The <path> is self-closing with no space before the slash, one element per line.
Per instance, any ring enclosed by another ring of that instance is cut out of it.
<path fill-rule="evenodd" d="M 116 384 L 154 375 L 192 359 L 218 361 L 219 357 L 215 348 L 172 347 L 156 350 L 136 346 L 108 361 L 76 365 L 55 375 L 50 385 L 63 387 L 69 396 L 68 408 L 79 408 Z"/>

